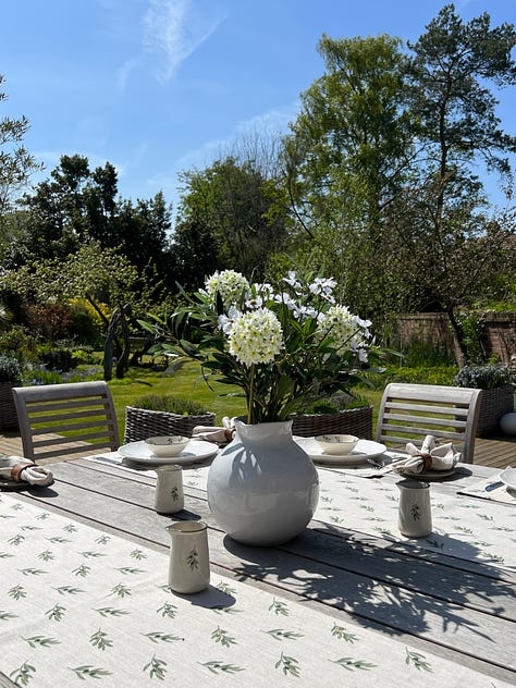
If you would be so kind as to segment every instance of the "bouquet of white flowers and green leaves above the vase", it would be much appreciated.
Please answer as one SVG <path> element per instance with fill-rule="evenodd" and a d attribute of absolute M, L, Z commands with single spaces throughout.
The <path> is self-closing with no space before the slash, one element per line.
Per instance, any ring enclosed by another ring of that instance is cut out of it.
<path fill-rule="evenodd" d="M 247 422 L 284 420 L 345 392 L 369 367 L 370 322 L 336 303 L 332 279 L 290 272 L 280 288 L 216 272 L 170 316 L 140 324 L 160 351 L 196 359 L 205 378 L 242 389 Z"/>

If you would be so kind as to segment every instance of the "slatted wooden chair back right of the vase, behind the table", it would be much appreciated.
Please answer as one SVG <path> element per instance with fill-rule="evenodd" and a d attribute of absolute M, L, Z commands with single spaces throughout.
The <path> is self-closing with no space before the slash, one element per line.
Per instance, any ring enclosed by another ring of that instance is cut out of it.
<path fill-rule="evenodd" d="M 453 442 L 466 464 L 474 463 L 481 390 L 439 384 L 388 384 L 378 415 L 377 442 L 420 446 L 427 434 Z M 440 442 L 441 440 L 441 442 Z"/>

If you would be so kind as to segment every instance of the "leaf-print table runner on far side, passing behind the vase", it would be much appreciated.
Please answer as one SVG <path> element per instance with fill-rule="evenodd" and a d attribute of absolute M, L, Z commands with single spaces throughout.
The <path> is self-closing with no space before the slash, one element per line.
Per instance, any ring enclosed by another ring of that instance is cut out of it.
<path fill-rule="evenodd" d="M 119 463 L 113 453 L 109 463 Z M 101 462 L 101 458 L 95 460 Z M 316 520 L 379 536 L 483 565 L 516 572 L 516 504 L 442 494 L 430 484 L 433 530 L 428 538 L 409 539 L 397 529 L 400 490 L 392 481 L 363 478 L 346 469 L 318 467 L 320 479 Z M 206 491 L 209 466 L 184 467 L 185 487 Z M 156 476 L 155 471 L 145 471 Z M 464 492 L 464 490 L 462 490 Z M 187 501 L 187 497 L 186 497 Z"/>

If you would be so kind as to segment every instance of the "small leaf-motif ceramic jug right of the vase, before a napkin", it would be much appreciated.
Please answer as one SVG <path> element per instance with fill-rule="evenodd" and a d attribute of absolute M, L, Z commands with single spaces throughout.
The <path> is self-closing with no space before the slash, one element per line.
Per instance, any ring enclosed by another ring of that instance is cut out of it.
<path fill-rule="evenodd" d="M 400 480 L 398 529 L 407 538 L 426 538 L 432 532 L 430 486 L 418 480 Z"/>

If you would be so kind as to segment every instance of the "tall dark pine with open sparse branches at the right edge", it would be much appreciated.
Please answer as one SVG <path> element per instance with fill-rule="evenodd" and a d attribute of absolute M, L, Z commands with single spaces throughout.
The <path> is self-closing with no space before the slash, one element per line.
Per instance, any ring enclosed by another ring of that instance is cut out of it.
<path fill-rule="evenodd" d="M 483 161 L 488 171 L 512 182 L 506 153 L 516 151 L 516 137 L 500 128 L 489 85 L 516 83 L 515 45 L 512 24 L 491 28 L 487 13 L 465 24 L 451 4 L 410 46 L 411 109 L 423 147 L 391 229 L 419 306 L 431 304 L 449 315 L 464 360 L 468 351 L 457 308 L 493 283 L 505 265 L 507 236 L 515 232 L 512 212 L 486 216 L 477 176 Z"/>

